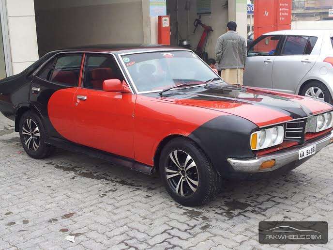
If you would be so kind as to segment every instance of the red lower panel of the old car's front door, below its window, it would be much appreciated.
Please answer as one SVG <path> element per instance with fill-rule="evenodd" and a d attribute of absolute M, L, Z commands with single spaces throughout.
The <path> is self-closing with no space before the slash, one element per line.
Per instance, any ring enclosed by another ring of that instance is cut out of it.
<path fill-rule="evenodd" d="M 87 100 L 79 100 L 77 95 L 87 96 Z M 78 88 L 72 103 L 74 141 L 134 159 L 135 100 L 136 95 L 133 94 Z"/>

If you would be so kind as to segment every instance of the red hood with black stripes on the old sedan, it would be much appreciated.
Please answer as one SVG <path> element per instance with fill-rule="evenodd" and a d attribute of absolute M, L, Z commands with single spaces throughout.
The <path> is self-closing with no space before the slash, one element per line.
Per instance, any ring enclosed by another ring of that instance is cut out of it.
<path fill-rule="evenodd" d="M 237 115 L 258 126 L 300 119 L 333 108 L 328 103 L 308 97 L 225 83 L 208 88 L 179 89 L 162 98 Z"/>

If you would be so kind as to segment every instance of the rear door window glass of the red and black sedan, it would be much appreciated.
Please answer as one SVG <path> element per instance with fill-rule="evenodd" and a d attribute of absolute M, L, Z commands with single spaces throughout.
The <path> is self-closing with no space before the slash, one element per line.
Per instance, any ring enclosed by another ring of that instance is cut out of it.
<path fill-rule="evenodd" d="M 82 55 L 65 55 L 56 58 L 49 81 L 67 86 L 77 86 Z"/>

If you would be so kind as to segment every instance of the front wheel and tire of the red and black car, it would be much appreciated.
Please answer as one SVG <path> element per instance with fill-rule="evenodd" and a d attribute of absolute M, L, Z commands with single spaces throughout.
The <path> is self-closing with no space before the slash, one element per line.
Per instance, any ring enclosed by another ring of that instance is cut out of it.
<path fill-rule="evenodd" d="M 211 200 L 220 184 L 205 153 L 191 140 L 176 138 L 163 148 L 159 171 L 170 196 L 185 206 L 198 206 Z"/>

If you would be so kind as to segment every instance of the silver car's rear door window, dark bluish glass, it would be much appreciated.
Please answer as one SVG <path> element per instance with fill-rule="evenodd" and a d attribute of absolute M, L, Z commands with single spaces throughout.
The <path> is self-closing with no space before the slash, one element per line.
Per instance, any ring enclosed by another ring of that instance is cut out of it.
<path fill-rule="evenodd" d="M 282 55 L 309 55 L 317 42 L 317 37 L 288 35 Z"/>

